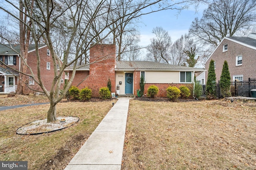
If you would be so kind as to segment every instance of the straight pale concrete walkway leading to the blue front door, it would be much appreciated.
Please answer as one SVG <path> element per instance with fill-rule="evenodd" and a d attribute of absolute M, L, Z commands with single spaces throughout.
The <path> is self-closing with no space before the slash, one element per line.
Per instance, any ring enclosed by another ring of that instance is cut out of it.
<path fill-rule="evenodd" d="M 130 99 L 132 98 L 118 98 L 116 104 L 64 170 L 121 169 Z"/>

